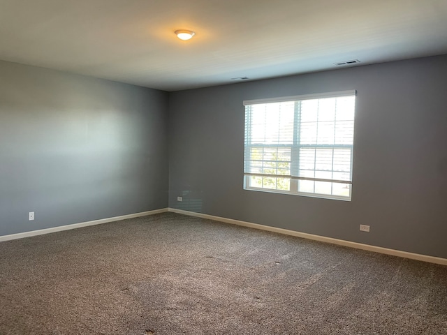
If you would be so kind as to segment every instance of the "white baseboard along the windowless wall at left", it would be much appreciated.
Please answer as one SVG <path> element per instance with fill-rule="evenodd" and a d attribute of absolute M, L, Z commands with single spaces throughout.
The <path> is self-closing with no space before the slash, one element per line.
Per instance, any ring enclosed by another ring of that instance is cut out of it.
<path fill-rule="evenodd" d="M 155 209 L 154 211 L 142 211 L 141 213 L 128 214 L 122 216 L 114 216 L 112 218 L 101 218 L 101 220 L 87 221 L 82 223 L 73 223 L 72 225 L 61 225 L 54 228 L 46 228 L 40 230 L 32 230 L 31 232 L 19 232 L 17 234 L 0 236 L 1 241 L 10 241 L 11 239 L 22 239 L 24 237 L 31 237 L 42 234 L 50 234 L 50 232 L 61 232 L 62 230 L 70 230 L 76 228 L 87 227 L 89 225 L 101 225 L 102 223 L 109 223 L 114 221 L 126 220 L 126 218 L 139 218 L 140 216 L 147 216 L 153 214 L 164 213 L 168 211 L 168 208 Z"/>

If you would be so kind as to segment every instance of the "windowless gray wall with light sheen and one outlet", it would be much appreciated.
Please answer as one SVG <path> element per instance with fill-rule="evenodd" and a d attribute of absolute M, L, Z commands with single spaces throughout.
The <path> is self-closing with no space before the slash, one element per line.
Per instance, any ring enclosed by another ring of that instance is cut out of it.
<path fill-rule="evenodd" d="M 167 127 L 166 92 L 0 61 L 0 235 L 167 207 Z"/>

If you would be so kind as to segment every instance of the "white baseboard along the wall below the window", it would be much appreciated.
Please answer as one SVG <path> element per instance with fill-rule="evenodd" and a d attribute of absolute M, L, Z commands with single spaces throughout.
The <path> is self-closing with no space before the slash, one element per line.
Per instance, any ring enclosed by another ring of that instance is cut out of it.
<path fill-rule="evenodd" d="M 434 256 L 420 255 L 418 253 L 409 253 L 406 251 L 400 251 L 395 249 L 382 248 L 381 246 L 371 246 L 369 244 L 361 244 L 357 242 L 345 241 L 343 239 L 333 239 L 332 237 L 324 237 L 314 234 L 307 234 L 305 232 L 295 232 L 295 230 L 287 230 L 283 228 L 270 227 L 268 225 L 259 225 L 258 223 L 251 223 L 246 221 L 234 220 L 232 218 L 222 218 L 220 216 L 213 216 L 208 214 L 196 213 L 193 211 L 184 211 L 182 209 L 169 208 L 168 211 L 173 213 L 184 214 L 189 216 L 196 216 L 198 218 L 208 218 L 214 221 L 220 221 L 224 223 L 231 223 L 233 225 L 243 225 L 244 227 L 255 228 L 260 230 L 268 230 L 269 232 L 278 232 L 279 234 L 286 234 L 296 237 L 302 237 L 304 239 L 313 239 L 315 241 L 322 241 L 326 243 L 337 244 L 339 246 L 349 246 L 350 248 L 357 248 L 367 251 L 374 251 L 375 253 L 384 253 L 386 255 L 393 255 L 402 258 L 409 258 L 411 260 L 421 260 L 423 262 L 430 262 L 440 265 L 447 265 L 446 258 L 439 258 Z"/>

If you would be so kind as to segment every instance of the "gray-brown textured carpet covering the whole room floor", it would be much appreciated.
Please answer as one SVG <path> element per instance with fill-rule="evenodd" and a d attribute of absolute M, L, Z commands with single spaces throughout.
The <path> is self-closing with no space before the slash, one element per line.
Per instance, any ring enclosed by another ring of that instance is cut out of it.
<path fill-rule="evenodd" d="M 447 334 L 447 267 L 179 214 L 0 243 L 0 334 Z"/>

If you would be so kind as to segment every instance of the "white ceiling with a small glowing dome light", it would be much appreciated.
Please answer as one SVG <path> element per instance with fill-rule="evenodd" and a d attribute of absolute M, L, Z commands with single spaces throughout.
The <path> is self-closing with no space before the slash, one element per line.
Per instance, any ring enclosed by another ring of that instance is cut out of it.
<path fill-rule="evenodd" d="M 0 59 L 166 91 L 435 54 L 447 0 L 0 0 Z"/>

